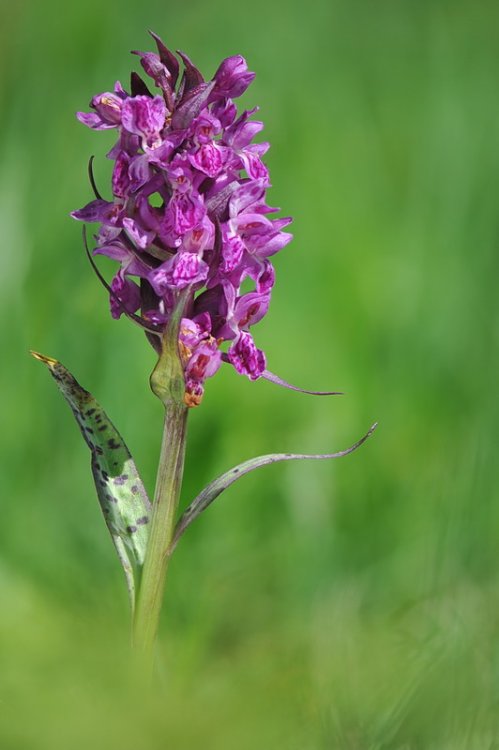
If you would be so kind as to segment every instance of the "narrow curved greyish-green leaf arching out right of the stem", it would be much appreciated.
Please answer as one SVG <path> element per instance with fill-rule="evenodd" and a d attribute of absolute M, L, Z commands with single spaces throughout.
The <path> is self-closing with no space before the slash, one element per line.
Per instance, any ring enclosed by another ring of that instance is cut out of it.
<path fill-rule="evenodd" d="M 348 456 L 349 453 L 353 453 L 353 451 L 357 450 L 357 448 L 359 448 L 362 443 L 365 443 L 367 438 L 372 435 L 377 426 L 378 423 L 375 422 L 369 429 L 369 431 L 364 435 L 364 437 L 358 440 L 354 445 L 350 446 L 350 448 L 347 448 L 343 451 L 338 451 L 337 453 L 269 453 L 266 456 L 250 458 L 249 461 L 244 461 L 242 464 L 239 464 L 239 466 L 235 466 L 233 469 L 225 472 L 225 474 L 222 474 L 220 477 L 218 477 L 218 479 L 215 479 L 213 482 L 211 482 L 211 484 L 205 487 L 204 490 L 200 492 L 200 494 L 196 497 L 195 500 L 192 501 L 192 503 L 180 517 L 175 527 L 175 533 L 170 545 L 170 551 L 173 551 L 184 531 L 203 512 L 203 510 L 206 510 L 206 508 L 211 505 L 211 503 L 216 500 L 216 498 L 221 495 L 221 493 L 226 490 L 227 487 L 230 487 L 233 482 L 244 476 L 244 474 L 248 474 L 250 471 L 259 469 L 261 466 L 277 463 L 278 461 L 296 461 L 307 458 L 341 458 L 342 456 Z"/>

